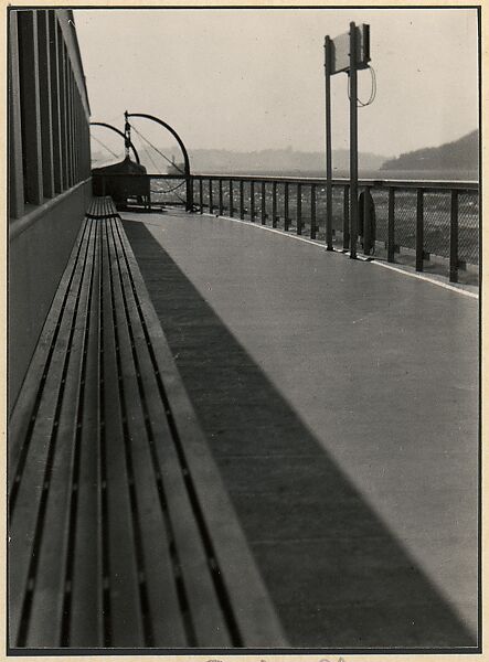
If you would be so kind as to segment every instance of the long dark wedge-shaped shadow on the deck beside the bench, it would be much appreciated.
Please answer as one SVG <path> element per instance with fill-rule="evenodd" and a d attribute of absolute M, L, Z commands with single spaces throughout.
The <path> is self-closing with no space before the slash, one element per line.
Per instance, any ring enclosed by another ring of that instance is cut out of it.
<path fill-rule="evenodd" d="M 171 257 L 124 225 L 291 644 L 477 645 Z"/>

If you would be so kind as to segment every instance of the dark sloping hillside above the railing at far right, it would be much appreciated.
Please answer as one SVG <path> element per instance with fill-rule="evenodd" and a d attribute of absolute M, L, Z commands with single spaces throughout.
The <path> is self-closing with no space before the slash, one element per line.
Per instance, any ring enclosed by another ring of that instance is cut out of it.
<path fill-rule="evenodd" d="M 479 131 L 471 131 L 440 147 L 428 147 L 401 154 L 382 163 L 381 170 L 477 170 Z"/>

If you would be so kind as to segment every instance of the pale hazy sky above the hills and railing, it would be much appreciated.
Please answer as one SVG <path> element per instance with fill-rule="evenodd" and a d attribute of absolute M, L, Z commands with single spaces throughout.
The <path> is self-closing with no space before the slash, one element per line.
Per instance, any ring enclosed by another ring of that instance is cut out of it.
<path fill-rule="evenodd" d="M 126 108 L 158 115 L 190 150 L 321 151 L 323 39 L 350 21 L 370 24 L 378 82 L 374 103 L 359 110 L 362 151 L 396 156 L 478 125 L 475 10 L 94 9 L 76 10 L 75 21 L 92 119 L 123 128 Z M 331 81 L 333 148 L 349 145 L 347 79 Z M 360 72 L 361 99 L 370 85 Z M 163 129 L 138 127 L 170 143 Z"/>

